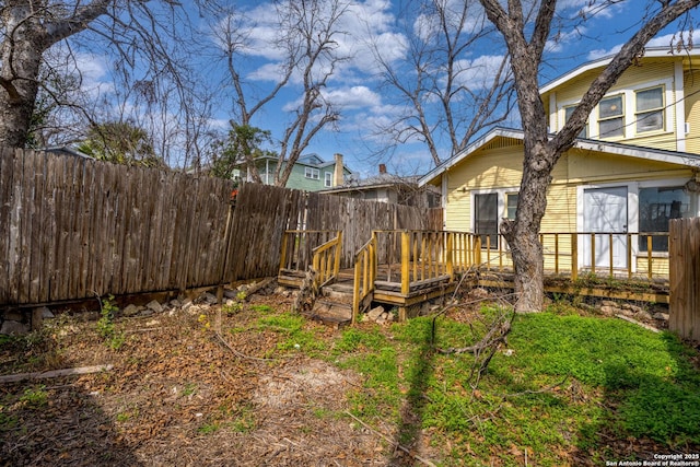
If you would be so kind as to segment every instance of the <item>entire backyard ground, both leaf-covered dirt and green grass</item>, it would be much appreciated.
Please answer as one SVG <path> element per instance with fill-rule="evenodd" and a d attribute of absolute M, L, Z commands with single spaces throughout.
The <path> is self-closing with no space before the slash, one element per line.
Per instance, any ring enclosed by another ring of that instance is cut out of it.
<path fill-rule="evenodd" d="M 0 458 L 605 466 L 700 453 L 700 357 L 672 334 L 562 304 L 516 316 L 456 306 L 336 331 L 288 302 L 198 304 L 155 318 L 66 316 L 3 338 L 0 374 L 114 369 L 0 385 Z M 483 353 L 444 353 L 479 342 L 503 317 L 512 318 L 508 342 L 485 372 Z"/>

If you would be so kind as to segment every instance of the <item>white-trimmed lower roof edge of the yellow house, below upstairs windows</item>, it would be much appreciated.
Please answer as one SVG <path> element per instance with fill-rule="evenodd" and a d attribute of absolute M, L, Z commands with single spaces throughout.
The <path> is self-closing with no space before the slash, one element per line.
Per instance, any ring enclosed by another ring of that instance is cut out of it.
<path fill-rule="evenodd" d="M 499 138 L 510 138 L 523 141 L 523 130 L 510 129 L 510 128 L 494 128 L 483 137 L 479 138 L 472 144 L 469 144 L 464 151 L 458 152 L 447 161 L 443 162 L 428 174 L 423 175 L 418 185 L 423 186 L 435 178 L 440 177 L 443 173 L 447 172 L 453 166 L 459 164 L 465 159 L 468 159 L 474 152 L 489 144 L 490 142 Z M 666 151 L 662 149 L 644 148 L 640 145 L 625 144 L 620 142 L 609 142 L 600 140 L 592 140 L 584 138 L 576 138 L 573 148 L 606 152 L 608 154 L 623 155 L 628 157 L 642 159 L 645 161 L 666 162 L 670 164 L 687 165 L 691 167 L 700 168 L 700 155 L 691 154 L 688 152 Z"/>

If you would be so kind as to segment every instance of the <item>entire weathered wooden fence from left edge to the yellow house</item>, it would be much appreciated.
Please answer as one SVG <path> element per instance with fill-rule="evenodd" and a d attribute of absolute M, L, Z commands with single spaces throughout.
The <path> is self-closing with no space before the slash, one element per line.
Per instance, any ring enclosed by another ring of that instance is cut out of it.
<path fill-rule="evenodd" d="M 288 230 L 342 231 L 342 267 L 374 229 L 433 229 L 396 205 L 0 150 L 0 306 L 277 276 Z M 312 248 L 318 246 L 313 245 Z"/>

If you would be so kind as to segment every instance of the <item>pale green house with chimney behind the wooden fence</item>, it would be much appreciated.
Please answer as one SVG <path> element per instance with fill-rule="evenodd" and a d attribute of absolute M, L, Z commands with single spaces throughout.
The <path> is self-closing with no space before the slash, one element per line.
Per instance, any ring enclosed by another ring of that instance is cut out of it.
<path fill-rule="evenodd" d="M 273 185 L 278 159 L 265 156 L 255 161 L 262 183 Z M 306 154 L 299 157 L 292 167 L 285 186 L 304 191 L 318 191 L 342 185 L 353 176 L 354 173 L 343 164 L 342 154 L 335 154 L 332 162 L 326 162 L 317 154 Z M 245 179 L 250 182 L 253 177 L 247 174 Z"/>

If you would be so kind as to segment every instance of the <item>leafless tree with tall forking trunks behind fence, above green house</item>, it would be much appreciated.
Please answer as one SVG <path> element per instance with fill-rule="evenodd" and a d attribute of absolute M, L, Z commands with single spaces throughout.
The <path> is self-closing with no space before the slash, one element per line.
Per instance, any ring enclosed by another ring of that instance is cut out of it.
<path fill-rule="evenodd" d="M 326 93 L 328 81 L 337 66 L 348 57 L 339 55 L 337 37 L 340 20 L 348 13 L 341 0 L 281 0 L 275 3 L 277 37 L 268 47 L 281 54 L 276 62 L 276 79 L 258 93 L 259 80 L 245 74 L 250 61 L 252 30 L 241 12 L 229 12 L 215 26 L 220 46 L 234 91 L 234 114 L 240 127 L 256 127 L 255 117 L 282 91 L 296 100 L 288 104 L 289 121 L 279 137 L 275 184 L 284 186 L 296 160 L 324 127 L 338 120 L 339 112 Z M 258 51 L 259 54 L 259 51 Z M 257 96 L 257 97 L 256 97 Z M 258 125 L 259 126 L 259 125 Z M 261 182 L 252 156 L 246 155 L 247 168 L 255 182 Z"/>

